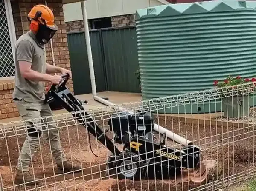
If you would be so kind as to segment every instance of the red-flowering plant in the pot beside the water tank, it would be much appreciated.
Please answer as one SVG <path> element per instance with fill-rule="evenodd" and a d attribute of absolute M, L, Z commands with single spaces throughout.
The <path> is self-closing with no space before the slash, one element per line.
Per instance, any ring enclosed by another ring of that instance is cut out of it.
<path fill-rule="evenodd" d="M 236 86 L 242 83 L 249 83 L 249 82 L 256 83 L 256 78 L 253 77 L 252 79 L 249 79 L 249 78 L 243 79 L 241 76 L 237 76 L 236 78 L 229 76 L 223 82 L 219 82 L 218 80 L 215 80 L 213 85 L 221 88 L 226 86 Z"/>

